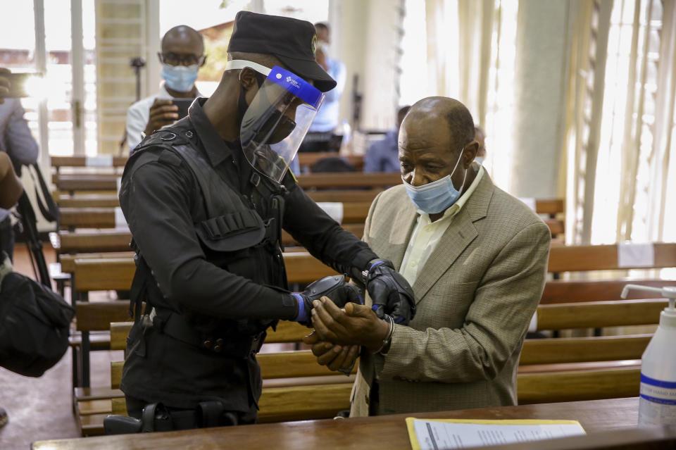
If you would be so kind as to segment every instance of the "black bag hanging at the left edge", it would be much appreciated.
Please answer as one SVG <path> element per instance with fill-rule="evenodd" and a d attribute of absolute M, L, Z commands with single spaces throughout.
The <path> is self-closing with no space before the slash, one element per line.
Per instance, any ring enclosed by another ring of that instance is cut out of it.
<path fill-rule="evenodd" d="M 75 310 L 48 287 L 19 273 L 0 284 L 0 366 L 42 376 L 68 349 Z"/>

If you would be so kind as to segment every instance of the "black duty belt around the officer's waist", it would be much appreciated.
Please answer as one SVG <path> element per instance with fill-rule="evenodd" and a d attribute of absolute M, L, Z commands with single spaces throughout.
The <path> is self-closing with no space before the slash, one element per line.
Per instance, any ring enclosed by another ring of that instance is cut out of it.
<path fill-rule="evenodd" d="M 249 358 L 249 356 L 257 354 L 258 351 L 261 351 L 266 335 L 263 331 L 254 336 L 205 336 L 195 330 L 193 325 L 187 323 L 182 315 L 170 313 L 169 317 L 163 320 L 157 315 L 155 308 L 150 312 L 149 318 L 152 320 L 153 326 L 165 335 L 199 349 L 213 351 L 215 354 L 232 358 Z"/>

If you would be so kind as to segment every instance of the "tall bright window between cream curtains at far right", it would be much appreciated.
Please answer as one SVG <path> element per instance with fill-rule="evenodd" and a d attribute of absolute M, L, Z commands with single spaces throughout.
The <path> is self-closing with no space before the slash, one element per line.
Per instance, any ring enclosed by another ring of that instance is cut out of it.
<path fill-rule="evenodd" d="M 656 239 L 649 232 L 649 208 L 655 201 L 650 185 L 661 19 L 660 0 L 613 4 L 594 174 L 592 244 Z"/>

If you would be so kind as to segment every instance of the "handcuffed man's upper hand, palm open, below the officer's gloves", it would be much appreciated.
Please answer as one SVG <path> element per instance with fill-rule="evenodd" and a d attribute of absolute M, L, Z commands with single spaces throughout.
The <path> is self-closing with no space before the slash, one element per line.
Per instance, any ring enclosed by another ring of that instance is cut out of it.
<path fill-rule="evenodd" d="M 340 345 L 363 345 L 377 351 L 389 332 L 389 323 L 365 305 L 347 304 L 344 311 L 331 301 L 315 301 L 312 324 L 320 339 Z"/>

